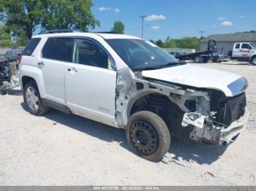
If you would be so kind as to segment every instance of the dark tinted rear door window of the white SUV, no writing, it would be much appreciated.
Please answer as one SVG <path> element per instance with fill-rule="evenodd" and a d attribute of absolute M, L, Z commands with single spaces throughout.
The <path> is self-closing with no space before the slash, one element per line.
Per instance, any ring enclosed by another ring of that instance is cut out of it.
<path fill-rule="evenodd" d="M 72 62 L 74 39 L 50 38 L 42 49 L 42 58 Z"/>

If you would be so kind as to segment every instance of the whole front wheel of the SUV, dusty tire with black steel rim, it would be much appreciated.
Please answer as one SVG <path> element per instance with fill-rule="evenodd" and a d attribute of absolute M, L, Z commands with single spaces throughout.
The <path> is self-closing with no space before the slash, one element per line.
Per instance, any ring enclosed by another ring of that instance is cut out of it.
<path fill-rule="evenodd" d="M 170 132 L 165 122 L 152 112 L 132 114 L 126 136 L 132 152 L 146 160 L 160 160 L 170 147 Z"/>

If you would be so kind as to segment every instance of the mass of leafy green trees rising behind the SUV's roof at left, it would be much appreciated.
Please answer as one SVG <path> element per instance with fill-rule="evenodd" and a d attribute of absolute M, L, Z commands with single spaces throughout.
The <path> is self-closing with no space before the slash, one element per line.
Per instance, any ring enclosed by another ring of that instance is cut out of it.
<path fill-rule="evenodd" d="M 0 20 L 13 36 L 48 29 L 89 28 L 99 26 L 91 13 L 91 0 L 1 0 Z"/>

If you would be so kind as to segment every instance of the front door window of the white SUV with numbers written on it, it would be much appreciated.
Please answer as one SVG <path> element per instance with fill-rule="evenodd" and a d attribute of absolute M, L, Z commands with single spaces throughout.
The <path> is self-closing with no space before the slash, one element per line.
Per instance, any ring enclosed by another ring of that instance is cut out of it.
<path fill-rule="evenodd" d="M 111 69 L 107 52 L 94 42 L 84 39 L 75 40 L 73 61 L 87 66 Z"/>

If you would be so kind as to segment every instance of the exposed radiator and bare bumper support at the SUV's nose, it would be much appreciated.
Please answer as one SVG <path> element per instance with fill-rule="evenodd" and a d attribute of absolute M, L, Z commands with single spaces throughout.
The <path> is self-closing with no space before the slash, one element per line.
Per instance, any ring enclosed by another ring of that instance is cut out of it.
<path fill-rule="evenodd" d="M 215 94 L 216 96 L 216 94 Z M 214 144 L 235 141 L 239 133 L 246 128 L 248 112 L 244 93 L 232 98 L 220 97 L 214 108 L 216 112 L 208 115 L 187 112 L 182 120 L 182 127 L 191 128 L 189 137 L 194 141 L 208 141 Z"/>

